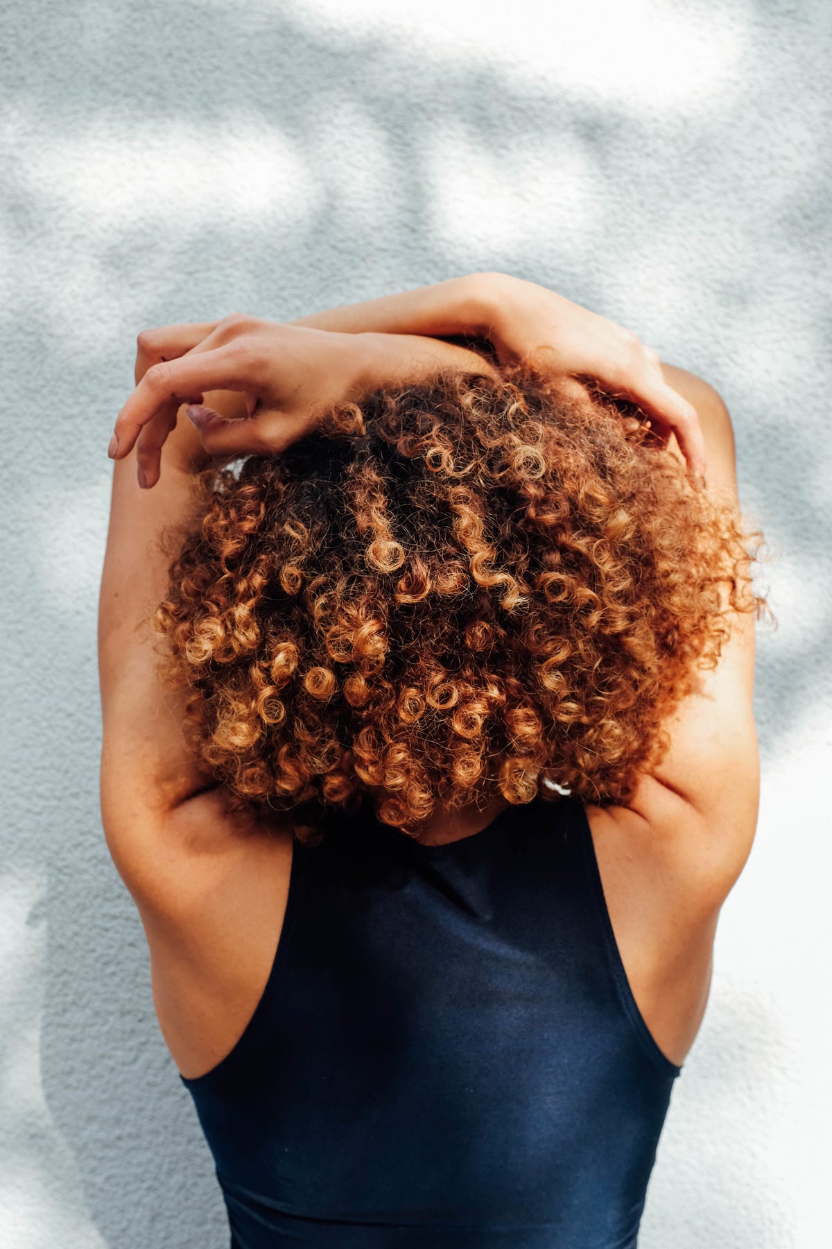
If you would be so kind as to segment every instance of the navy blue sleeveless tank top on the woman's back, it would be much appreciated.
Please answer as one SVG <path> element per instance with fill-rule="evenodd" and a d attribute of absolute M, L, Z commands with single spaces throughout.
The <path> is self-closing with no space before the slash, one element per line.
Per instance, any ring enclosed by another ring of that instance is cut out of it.
<path fill-rule="evenodd" d="M 191 1092 L 232 1249 L 630 1249 L 680 1067 L 617 952 L 586 813 L 296 842 L 257 1008 Z"/>

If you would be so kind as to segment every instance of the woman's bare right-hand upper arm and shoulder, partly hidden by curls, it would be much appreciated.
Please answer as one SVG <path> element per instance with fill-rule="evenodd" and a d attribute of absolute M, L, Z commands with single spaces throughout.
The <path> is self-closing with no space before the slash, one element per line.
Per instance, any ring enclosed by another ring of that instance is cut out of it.
<path fill-rule="evenodd" d="M 696 405 L 710 488 L 736 505 L 733 431 L 701 378 L 670 365 L 669 381 Z M 671 453 L 679 453 L 670 443 Z M 728 607 L 723 598 L 723 606 Z M 755 615 L 733 612 L 716 671 L 667 723 L 670 749 L 624 807 L 588 806 L 610 917 L 642 1015 L 681 1063 L 711 983 L 721 907 L 751 851 L 760 793 L 755 732 Z"/>

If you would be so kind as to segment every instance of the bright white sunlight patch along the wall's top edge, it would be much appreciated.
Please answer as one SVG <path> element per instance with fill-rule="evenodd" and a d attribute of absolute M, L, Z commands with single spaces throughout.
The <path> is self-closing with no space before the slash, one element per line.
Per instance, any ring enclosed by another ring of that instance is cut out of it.
<path fill-rule="evenodd" d="M 516 0 L 496 14 L 478 0 L 304 0 L 293 16 L 342 40 L 394 40 L 413 56 L 486 60 L 524 81 L 650 116 L 721 106 L 738 90 L 746 45 L 742 2 Z"/>

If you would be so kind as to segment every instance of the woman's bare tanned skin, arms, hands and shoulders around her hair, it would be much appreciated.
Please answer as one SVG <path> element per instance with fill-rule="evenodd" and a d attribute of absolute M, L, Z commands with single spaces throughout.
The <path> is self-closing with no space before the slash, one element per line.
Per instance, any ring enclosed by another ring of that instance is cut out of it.
<path fill-rule="evenodd" d="M 655 352 L 641 348 L 641 355 L 634 336 L 586 310 L 573 313 L 575 305 L 541 287 L 529 292 L 525 287 L 531 284 L 513 285 L 515 280 L 505 275 L 464 281 L 468 286 L 450 292 L 453 284 L 439 284 L 444 291 L 409 292 L 409 321 L 407 296 L 393 296 L 387 310 L 383 300 L 367 305 L 364 320 L 359 305 L 306 318 L 293 338 L 284 335 L 287 358 L 292 356 L 298 370 L 292 383 L 299 396 L 296 415 L 306 411 L 309 395 L 303 386 L 309 376 L 316 386 L 323 385 L 312 398 L 324 402 L 336 396 L 359 397 L 368 385 L 385 380 L 415 380 L 420 370 L 429 373 L 437 365 L 463 367 L 468 361 L 472 371 L 483 367 L 479 357 L 462 347 L 415 335 L 489 335 L 504 358 L 511 351 L 516 356 L 521 342 L 511 335 L 525 317 L 538 337 L 530 343 L 526 336 L 529 350 L 546 346 L 556 331 L 553 358 L 564 372 L 594 375 L 610 390 L 637 398 L 664 431 L 669 452 L 681 455 L 681 446 L 691 467 L 706 470 L 712 488 L 736 500 L 731 421 L 711 386 L 660 363 Z M 166 591 L 167 557 L 160 551 L 160 537 L 191 515 L 195 471 L 227 457 L 233 437 L 242 446 L 242 427 L 212 421 L 212 430 L 197 430 L 181 408 L 182 400 L 196 400 L 221 417 L 246 416 L 246 363 L 235 363 L 231 376 L 231 363 L 223 357 L 212 375 L 218 378 L 212 388 L 205 382 L 207 375 L 198 373 L 198 361 L 190 358 L 206 342 L 206 352 L 216 351 L 217 335 L 227 343 L 242 333 L 239 321 L 228 322 L 208 322 L 201 333 L 190 327 L 191 338 L 185 332 L 188 327 L 178 327 L 188 341 L 172 351 L 167 331 L 140 336 L 140 390 L 116 426 L 121 450 L 114 466 L 100 600 L 105 836 L 147 936 L 162 1034 L 178 1070 L 188 1078 L 223 1058 L 251 1018 L 279 939 L 292 859 L 289 832 L 244 827 L 239 817 L 230 817 L 221 787 L 195 763 L 182 733 L 182 698 L 157 681 L 147 623 Z M 256 333 L 262 326 L 257 322 L 248 331 Z M 538 335 L 539 326 L 541 328 Z M 312 373 L 304 365 L 307 350 L 316 360 Z M 188 353 L 188 367 L 193 365 L 182 383 L 185 392 L 180 383 L 186 375 L 175 378 L 171 390 L 163 363 L 182 352 Z M 607 362 L 614 356 L 617 371 L 605 378 L 601 375 L 611 370 Z M 251 352 L 248 363 L 256 372 Z M 148 371 L 155 380 L 141 390 Z M 147 416 L 146 396 L 152 387 L 158 392 L 157 412 L 141 425 L 136 441 L 136 418 L 142 402 Z M 251 390 L 256 388 L 251 382 Z M 281 397 L 281 413 L 289 412 L 291 402 Z M 246 436 L 253 437 L 256 427 L 249 418 Z M 140 467 L 145 488 L 138 485 Z M 701 673 L 699 688 L 672 717 L 671 748 L 661 764 L 642 777 L 626 807 L 586 808 L 630 985 L 656 1043 L 675 1063 L 685 1059 L 699 1030 L 720 908 L 746 862 L 757 819 L 753 616 L 732 613 L 731 622 L 732 637 L 717 669 Z M 470 836 L 503 806 L 496 796 L 453 818 L 438 812 L 420 836 L 428 843 Z"/>

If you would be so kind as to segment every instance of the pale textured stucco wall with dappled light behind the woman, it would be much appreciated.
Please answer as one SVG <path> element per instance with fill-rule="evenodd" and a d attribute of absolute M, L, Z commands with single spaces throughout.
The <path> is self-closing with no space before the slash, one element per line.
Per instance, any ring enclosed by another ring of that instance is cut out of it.
<path fill-rule="evenodd" d="M 757 842 L 641 1244 L 828 1245 L 832 7 L 30 0 L 0 19 L 0 1243 L 228 1243 L 100 826 L 106 446 L 137 331 L 499 269 L 720 390 L 772 552 Z"/>

